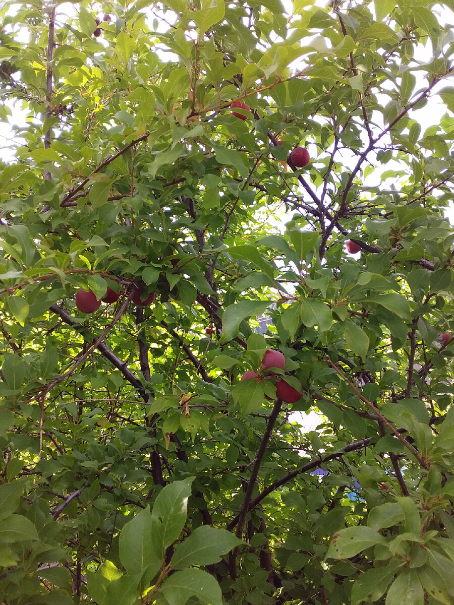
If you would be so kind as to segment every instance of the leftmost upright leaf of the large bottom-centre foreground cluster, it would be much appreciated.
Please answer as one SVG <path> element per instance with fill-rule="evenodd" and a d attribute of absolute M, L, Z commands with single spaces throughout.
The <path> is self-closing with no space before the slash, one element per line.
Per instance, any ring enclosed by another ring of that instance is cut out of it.
<path fill-rule="evenodd" d="M 153 531 L 150 508 L 140 511 L 120 532 L 120 561 L 131 574 L 147 569 L 150 579 L 162 565 L 160 536 Z"/>

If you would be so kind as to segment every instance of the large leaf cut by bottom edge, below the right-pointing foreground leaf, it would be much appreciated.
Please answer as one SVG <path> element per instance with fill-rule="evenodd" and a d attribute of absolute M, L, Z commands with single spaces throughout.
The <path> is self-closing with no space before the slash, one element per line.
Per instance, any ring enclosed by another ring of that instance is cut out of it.
<path fill-rule="evenodd" d="M 197 597 L 205 605 L 222 605 L 219 584 L 201 569 L 177 571 L 163 583 L 160 592 L 169 605 L 185 605 L 189 597 Z"/>

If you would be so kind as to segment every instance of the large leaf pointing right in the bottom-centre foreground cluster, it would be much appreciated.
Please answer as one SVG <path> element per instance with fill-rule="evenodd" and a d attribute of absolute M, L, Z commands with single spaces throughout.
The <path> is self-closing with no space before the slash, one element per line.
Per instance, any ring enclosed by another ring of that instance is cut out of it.
<path fill-rule="evenodd" d="M 174 569 L 183 569 L 190 565 L 217 563 L 220 555 L 240 544 L 241 540 L 226 529 L 203 525 L 194 529 L 183 543 L 177 545 L 170 565 Z"/>

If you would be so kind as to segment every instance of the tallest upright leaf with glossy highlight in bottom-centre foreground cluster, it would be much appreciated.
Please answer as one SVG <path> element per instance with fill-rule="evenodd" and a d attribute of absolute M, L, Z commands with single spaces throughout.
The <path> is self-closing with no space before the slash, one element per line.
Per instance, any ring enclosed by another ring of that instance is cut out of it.
<path fill-rule="evenodd" d="M 159 492 L 154 502 L 151 516 L 162 531 L 160 532 L 161 551 L 171 545 L 177 538 L 186 522 L 188 498 L 194 477 L 174 481 Z"/>

